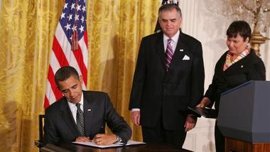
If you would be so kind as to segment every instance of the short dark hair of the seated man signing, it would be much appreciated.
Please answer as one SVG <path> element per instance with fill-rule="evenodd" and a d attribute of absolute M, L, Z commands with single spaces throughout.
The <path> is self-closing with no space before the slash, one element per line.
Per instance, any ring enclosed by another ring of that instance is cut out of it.
<path fill-rule="evenodd" d="M 65 66 L 58 69 L 55 73 L 55 83 L 57 87 L 60 88 L 59 82 L 67 80 L 71 75 L 75 77 L 75 79 L 79 80 L 79 74 L 74 67 Z"/>

